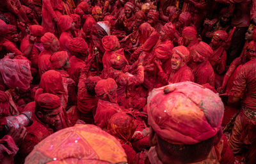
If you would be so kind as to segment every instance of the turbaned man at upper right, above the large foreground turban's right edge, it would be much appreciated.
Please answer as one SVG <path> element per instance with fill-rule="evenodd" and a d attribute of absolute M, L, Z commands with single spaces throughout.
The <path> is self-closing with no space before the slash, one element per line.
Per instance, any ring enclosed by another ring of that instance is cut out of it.
<path fill-rule="evenodd" d="M 212 47 L 213 54 L 209 57 L 209 62 L 212 65 L 215 74 L 215 87 L 221 86 L 223 73 L 226 68 L 227 53 L 225 50 L 226 40 L 228 34 L 226 31 L 218 30 L 213 33 L 210 46 Z"/>

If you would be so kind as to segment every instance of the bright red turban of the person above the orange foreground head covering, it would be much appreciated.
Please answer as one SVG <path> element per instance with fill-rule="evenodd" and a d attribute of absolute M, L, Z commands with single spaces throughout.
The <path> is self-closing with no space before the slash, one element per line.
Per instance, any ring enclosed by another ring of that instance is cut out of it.
<path fill-rule="evenodd" d="M 99 80 L 99 82 L 95 86 L 95 93 L 97 94 L 97 96 L 100 96 L 116 89 L 117 85 L 115 80 L 113 78 L 107 78 L 104 80 Z"/>

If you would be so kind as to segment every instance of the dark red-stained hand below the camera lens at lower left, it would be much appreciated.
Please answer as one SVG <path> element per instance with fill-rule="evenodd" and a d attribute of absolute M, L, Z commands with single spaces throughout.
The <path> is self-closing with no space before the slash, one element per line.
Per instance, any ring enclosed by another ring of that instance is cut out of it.
<path fill-rule="evenodd" d="M 16 145 L 21 144 L 27 134 L 28 132 L 24 126 L 20 126 L 18 129 L 12 127 L 8 133 L 8 135 L 13 138 Z"/>

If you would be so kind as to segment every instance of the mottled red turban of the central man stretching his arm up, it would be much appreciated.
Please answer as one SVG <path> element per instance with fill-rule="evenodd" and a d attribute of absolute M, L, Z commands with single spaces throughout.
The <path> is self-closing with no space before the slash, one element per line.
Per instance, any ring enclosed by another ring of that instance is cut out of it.
<path fill-rule="evenodd" d="M 114 53 L 110 57 L 110 63 L 113 68 L 120 69 L 127 65 L 128 61 L 124 55 Z"/>

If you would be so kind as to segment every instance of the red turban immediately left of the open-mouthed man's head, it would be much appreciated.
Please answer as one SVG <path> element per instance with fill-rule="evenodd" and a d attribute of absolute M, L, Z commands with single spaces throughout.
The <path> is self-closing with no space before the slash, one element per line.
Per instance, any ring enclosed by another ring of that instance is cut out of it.
<path fill-rule="evenodd" d="M 156 57 L 159 59 L 167 60 L 170 58 L 171 50 L 172 47 L 170 47 L 170 44 L 161 44 L 157 46 L 155 50 Z"/>

